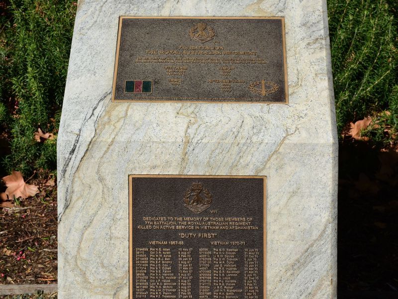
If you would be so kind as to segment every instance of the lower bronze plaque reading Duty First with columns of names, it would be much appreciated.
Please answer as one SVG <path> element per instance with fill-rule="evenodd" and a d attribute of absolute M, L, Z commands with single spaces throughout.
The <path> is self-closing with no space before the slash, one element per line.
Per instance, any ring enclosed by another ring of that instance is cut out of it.
<path fill-rule="evenodd" d="M 266 178 L 129 176 L 130 299 L 265 299 Z"/>

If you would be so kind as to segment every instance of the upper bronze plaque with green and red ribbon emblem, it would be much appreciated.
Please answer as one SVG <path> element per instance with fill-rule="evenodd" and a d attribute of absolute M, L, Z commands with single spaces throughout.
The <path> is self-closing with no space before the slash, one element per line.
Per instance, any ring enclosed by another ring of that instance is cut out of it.
<path fill-rule="evenodd" d="M 288 103 L 283 17 L 121 16 L 112 101 Z"/>

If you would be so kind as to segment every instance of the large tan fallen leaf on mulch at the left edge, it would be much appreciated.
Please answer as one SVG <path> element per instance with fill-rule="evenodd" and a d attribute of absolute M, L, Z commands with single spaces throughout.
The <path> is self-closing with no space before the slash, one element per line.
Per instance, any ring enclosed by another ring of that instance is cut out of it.
<path fill-rule="evenodd" d="M 23 180 L 22 174 L 19 171 L 12 171 L 11 175 L 4 176 L 3 181 L 7 186 L 5 189 L 5 194 L 8 195 L 8 198 L 26 198 L 29 196 L 35 196 L 39 189 L 35 185 L 28 185 Z"/>

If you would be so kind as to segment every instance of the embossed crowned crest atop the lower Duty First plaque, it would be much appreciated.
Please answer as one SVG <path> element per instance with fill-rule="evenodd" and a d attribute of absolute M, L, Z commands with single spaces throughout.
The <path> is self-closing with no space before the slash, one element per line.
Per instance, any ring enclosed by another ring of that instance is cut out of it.
<path fill-rule="evenodd" d="M 201 193 L 204 198 L 200 196 Z M 212 201 L 211 193 L 200 182 L 192 183 L 184 194 L 184 205 L 197 214 L 207 209 Z"/>

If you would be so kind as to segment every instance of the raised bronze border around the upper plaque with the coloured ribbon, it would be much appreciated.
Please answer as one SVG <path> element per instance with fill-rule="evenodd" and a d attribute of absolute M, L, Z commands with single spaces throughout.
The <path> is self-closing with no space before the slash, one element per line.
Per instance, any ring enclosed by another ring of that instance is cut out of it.
<path fill-rule="evenodd" d="M 117 79 L 117 67 L 119 63 L 119 48 L 120 48 L 120 35 L 121 35 L 121 25 L 123 19 L 131 18 L 174 18 L 174 19 L 280 19 L 282 20 L 282 48 L 283 48 L 283 63 L 284 63 L 284 76 L 285 76 L 285 98 L 286 101 L 282 102 L 237 102 L 237 101 L 171 101 L 171 100 L 115 100 L 115 89 L 116 89 L 116 79 Z M 119 16 L 119 25 L 117 29 L 117 43 L 116 43 L 116 54 L 115 54 L 115 66 L 113 70 L 113 84 L 112 84 L 112 96 L 111 101 L 113 103 L 227 103 L 227 104 L 286 104 L 289 105 L 289 84 L 288 84 L 288 66 L 286 58 L 286 31 L 285 31 L 285 17 L 284 16 Z"/>

